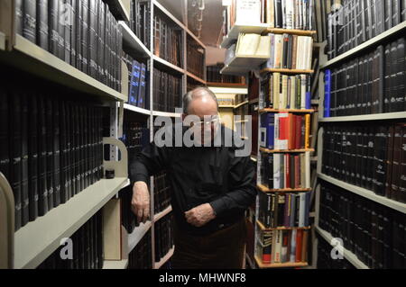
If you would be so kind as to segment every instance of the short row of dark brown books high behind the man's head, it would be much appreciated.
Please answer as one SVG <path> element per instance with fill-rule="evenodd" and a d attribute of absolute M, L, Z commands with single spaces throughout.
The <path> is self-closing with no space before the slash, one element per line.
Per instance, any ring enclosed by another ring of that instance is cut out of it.
<path fill-rule="evenodd" d="M 203 79 L 205 75 L 205 50 L 188 35 L 186 51 L 188 53 L 188 71 Z"/>

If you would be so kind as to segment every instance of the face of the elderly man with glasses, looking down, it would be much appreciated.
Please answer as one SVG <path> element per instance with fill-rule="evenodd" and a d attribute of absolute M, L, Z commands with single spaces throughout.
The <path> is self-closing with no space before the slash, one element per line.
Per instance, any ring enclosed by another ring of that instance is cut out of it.
<path fill-rule="evenodd" d="M 196 132 L 195 137 L 204 144 L 211 142 L 214 139 L 214 135 L 218 130 L 218 111 L 217 103 L 209 95 L 201 96 L 193 99 L 189 103 L 189 114 L 197 115 L 202 121 L 199 125 L 195 125 Z M 204 123 L 203 123 L 204 122 Z"/>

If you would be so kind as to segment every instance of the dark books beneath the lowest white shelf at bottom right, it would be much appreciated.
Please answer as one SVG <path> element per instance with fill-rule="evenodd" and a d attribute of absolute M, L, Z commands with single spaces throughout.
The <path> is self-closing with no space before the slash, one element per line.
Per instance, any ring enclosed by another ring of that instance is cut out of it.
<path fill-rule="evenodd" d="M 318 236 L 318 269 L 355 269 L 355 266 L 346 260 L 346 258 L 334 259 L 331 257 L 331 245 Z"/>

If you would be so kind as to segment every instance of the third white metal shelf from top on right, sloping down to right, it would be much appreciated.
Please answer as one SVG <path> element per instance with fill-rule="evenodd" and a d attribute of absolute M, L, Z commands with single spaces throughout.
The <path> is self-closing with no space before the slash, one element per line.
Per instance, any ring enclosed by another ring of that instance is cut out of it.
<path fill-rule="evenodd" d="M 335 184 L 339 187 L 342 187 L 342 188 L 346 189 L 348 192 L 361 195 L 364 198 L 367 198 L 374 202 L 381 203 L 389 208 L 392 208 L 393 210 L 401 211 L 402 213 L 406 213 L 406 203 L 395 202 L 382 195 L 378 195 L 378 194 L 374 193 L 373 191 L 369 191 L 367 189 L 364 189 L 362 187 L 359 187 L 359 186 L 356 186 L 353 184 L 347 184 L 345 182 L 342 182 L 342 181 L 340 181 L 336 178 L 333 178 L 331 176 L 328 176 L 328 175 L 323 175 L 323 174 L 318 173 L 318 177 L 327 181 L 328 183 Z"/>

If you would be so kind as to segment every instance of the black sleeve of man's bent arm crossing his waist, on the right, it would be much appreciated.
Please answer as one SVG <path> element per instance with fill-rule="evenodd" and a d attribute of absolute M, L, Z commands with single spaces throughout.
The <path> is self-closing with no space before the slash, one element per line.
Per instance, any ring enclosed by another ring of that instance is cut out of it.
<path fill-rule="evenodd" d="M 228 192 L 210 202 L 217 216 L 245 211 L 256 196 L 254 164 L 250 157 L 234 157 L 229 171 Z"/>

